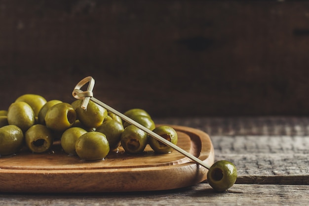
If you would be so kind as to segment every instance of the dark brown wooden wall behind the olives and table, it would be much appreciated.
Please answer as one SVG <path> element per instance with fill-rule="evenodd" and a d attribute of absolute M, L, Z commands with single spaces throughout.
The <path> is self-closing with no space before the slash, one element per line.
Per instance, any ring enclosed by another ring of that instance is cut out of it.
<path fill-rule="evenodd" d="M 86 76 L 154 117 L 309 115 L 309 1 L 0 0 L 0 109 Z"/>

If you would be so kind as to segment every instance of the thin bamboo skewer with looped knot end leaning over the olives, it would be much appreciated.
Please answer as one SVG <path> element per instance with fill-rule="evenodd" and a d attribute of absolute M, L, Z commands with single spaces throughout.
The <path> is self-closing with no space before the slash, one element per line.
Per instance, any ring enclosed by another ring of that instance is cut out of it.
<path fill-rule="evenodd" d="M 86 83 L 88 83 L 88 88 L 86 91 L 82 91 L 80 90 L 80 88 L 85 85 Z M 145 126 L 143 126 L 142 124 L 139 124 L 137 122 L 135 122 L 134 120 L 132 120 L 131 118 L 128 118 L 127 116 L 123 115 L 122 113 L 118 112 L 117 110 L 115 110 L 114 108 L 108 106 L 107 104 L 99 101 L 98 99 L 93 97 L 93 87 L 94 87 L 94 79 L 92 77 L 86 77 L 83 80 L 81 80 L 80 82 L 77 83 L 75 89 L 73 90 L 72 94 L 75 98 L 77 99 L 83 99 L 83 102 L 81 104 L 81 108 L 86 110 L 87 109 L 87 105 L 89 103 L 89 100 L 93 101 L 94 103 L 100 105 L 101 107 L 107 109 L 108 111 L 114 113 L 115 115 L 119 116 L 122 120 L 128 122 L 129 124 L 133 124 L 136 127 L 138 127 L 139 129 L 145 131 L 146 133 L 148 133 L 150 136 L 154 137 L 156 140 L 162 142 L 165 145 L 170 146 L 171 148 L 173 148 L 174 150 L 178 151 L 179 153 L 183 154 L 184 156 L 188 157 L 189 159 L 193 160 L 195 163 L 205 167 L 206 169 L 209 169 L 210 166 L 205 164 L 203 161 L 201 161 L 200 159 L 196 158 L 195 156 L 193 156 L 192 154 L 188 153 L 187 151 L 183 150 L 182 148 L 178 147 L 177 145 L 174 145 L 173 143 L 169 142 L 168 140 L 164 139 L 163 137 L 161 137 L 160 135 L 154 133 L 152 130 L 146 128 Z"/>

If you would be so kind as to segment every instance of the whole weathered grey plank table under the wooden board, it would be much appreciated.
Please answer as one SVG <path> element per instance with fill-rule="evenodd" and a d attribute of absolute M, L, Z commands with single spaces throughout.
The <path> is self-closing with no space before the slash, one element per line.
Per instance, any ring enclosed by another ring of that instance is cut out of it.
<path fill-rule="evenodd" d="M 205 206 L 308 205 L 309 118 L 164 118 L 207 132 L 216 160 L 229 160 L 238 169 L 236 183 L 216 193 L 202 182 L 190 188 L 156 192 L 103 194 L 1 193 L 0 206 Z"/>

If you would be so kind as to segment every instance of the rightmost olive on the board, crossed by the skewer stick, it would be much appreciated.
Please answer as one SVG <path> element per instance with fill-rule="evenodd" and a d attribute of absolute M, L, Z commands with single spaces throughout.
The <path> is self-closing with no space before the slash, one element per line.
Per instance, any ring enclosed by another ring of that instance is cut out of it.
<path fill-rule="evenodd" d="M 169 142 L 173 143 L 174 145 L 176 145 L 178 142 L 177 132 L 170 126 L 166 125 L 158 126 L 153 130 L 153 132 L 160 135 Z M 154 137 L 150 135 L 148 137 L 148 143 L 156 153 L 167 154 L 173 150 L 173 148 L 171 148 L 170 146 L 165 145 L 164 143 L 156 140 Z"/>

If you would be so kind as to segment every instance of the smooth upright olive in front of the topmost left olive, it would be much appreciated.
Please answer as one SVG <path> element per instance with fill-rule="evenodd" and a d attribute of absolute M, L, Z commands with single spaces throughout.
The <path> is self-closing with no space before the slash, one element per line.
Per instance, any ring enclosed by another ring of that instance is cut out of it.
<path fill-rule="evenodd" d="M 14 102 L 7 111 L 7 122 L 21 128 L 26 132 L 36 123 L 35 113 L 32 107 L 26 102 Z"/>

